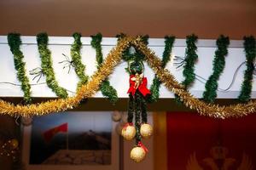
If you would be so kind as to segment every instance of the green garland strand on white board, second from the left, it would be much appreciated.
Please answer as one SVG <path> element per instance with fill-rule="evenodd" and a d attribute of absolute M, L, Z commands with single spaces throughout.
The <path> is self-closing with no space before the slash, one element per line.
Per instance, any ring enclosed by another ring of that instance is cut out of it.
<path fill-rule="evenodd" d="M 48 46 L 48 35 L 46 33 L 39 33 L 37 35 L 38 51 L 41 58 L 41 67 L 46 76 L 46 83 L 55 94 L 60 98 L 67 98 L 67 91 L 61 88 L 55 80 L 55 73 L 52 67 L 52 60 Z"/>

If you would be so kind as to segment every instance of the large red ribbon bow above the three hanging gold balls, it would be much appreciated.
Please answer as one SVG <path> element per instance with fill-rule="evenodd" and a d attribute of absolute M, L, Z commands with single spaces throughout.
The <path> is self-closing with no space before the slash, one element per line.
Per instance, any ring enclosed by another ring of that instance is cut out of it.
<path fill-rule="evenodd" d="M 146 96 L 147 94 L 150 94 L 150 91 L 147 88 L 148 80 L 146 77 L 143 77 L 142 82 L 139 84 L 138 87 L 136 87 L 136 82 L 131 80 L 135 77 L 135 75 L 130 76 L 130 88 L 128 89 L 127 94 L 132 94 L 133 96 L 136 93 L 136 90 L 143 94 L 143 96 Z"/>

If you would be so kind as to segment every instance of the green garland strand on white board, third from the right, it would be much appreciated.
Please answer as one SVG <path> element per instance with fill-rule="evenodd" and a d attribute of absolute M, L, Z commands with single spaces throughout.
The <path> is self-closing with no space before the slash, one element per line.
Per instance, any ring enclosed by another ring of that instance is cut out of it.
<path fill-rule="evenodd" d="M 198 37 L 194 34 L 187 36 L 187 48 L 186 48 L 186 57 L 184 59 L 183 65 L 183 77 L 182 82 L 185 88 L 189 88 L 195 82 L 195 62 L 198 59 L 196 54 L 197 47 L 195 43 L 197 42 Z"/>

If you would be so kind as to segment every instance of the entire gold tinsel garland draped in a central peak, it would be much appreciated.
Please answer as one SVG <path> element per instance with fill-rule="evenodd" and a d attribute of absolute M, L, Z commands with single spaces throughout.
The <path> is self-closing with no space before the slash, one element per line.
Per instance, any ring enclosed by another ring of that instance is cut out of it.
<path fill-rule="evenodd" d="M 79 88 L 79 91 L 74 97 L 67 99 L 53 99 L 44 103 L 32 105 L 13 105 L 9 102 L 0 100 L 0 114 L 9 116 L 42 116 L 52 112 L 72 109 L 79 105 L 79 102 L 82 99 L 90 98 L 96 94 L 102 81 L 113 72 L 113 68 L 115 65 L 118 65 L 121 60 L 121 54 L 130 45 L 135 46 L 145 54 L 148 65 L 151 66 L 157 77 L 160 78 L 160 81 L 166 85 L 166 88 L 171 90 L 174 94 L 177 94 L 184 105 L 188 106 L 190 109 L 195 109 L 201 115 L 216 118 L 229 118 L 246 116 L 256 111 L 256 102 L 252 100 L 247 104 L 218 106 L 207 104 L 200 99 L 196 99 L 183 88 L 183 85 L 177 82 L 170 71 L 161 68 L 160 59 L 156 57 L 154 52 L 143 44 L 143 42 L 141 42 L 140 37 L 125 37 L 109 52 L 101 69 L 96 71 L 91 77 L 90 82 Z"/>

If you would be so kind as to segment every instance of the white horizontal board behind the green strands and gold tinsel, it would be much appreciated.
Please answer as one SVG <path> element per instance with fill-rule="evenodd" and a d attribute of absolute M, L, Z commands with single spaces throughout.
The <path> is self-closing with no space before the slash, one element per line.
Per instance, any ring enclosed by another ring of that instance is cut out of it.
<path fill-rule="evenodd" d="M 36 67 L 40 67 L 40 58 L 38 55 L 36 37 L 22 37 L 22 42 L 24 44 L 22 45 L 21 50 L 25 55 L 24 60 L 26 61 L 26 73 L 31 83 L 37 83 L 36 81 L 32 81 L 33 77 L 28 73 L 28 71 L 31 71 Z M 82 49 L 82 61 L 84 65 L 86 65 L 85 72 L 88 75 L 92 75 L 93 72 L 96 71 L 96 53 L 95 50 L 90 47 L 90 37 L 83 37 L 82 42 L 84 44 Z M 49 49 L 52 53 L 56 80 L 59 82 L 61 87 L 75 92 L 78 77 L 73 70 L 70 72 L 70 74 L 68 74 L 67 69 L 63 70 L 63 65 L 59 64 L 60 61 L 65 59 L 62 54 L 70 56 L 70 45 L 72 43 L 73 37 L 49 37 Z M 115 44 L 116 38 L 103 38 L 102 49 L 104 57 L 107 56 L 108 52 L 114 47 Z M 195 65 L 195 73 L 207 79 L 212 74 L 212 59 L 216 50 L 215 40 L 199 40 L 197 46 L 197 54 L 199 55 L 199 59 Z M 164 39 L 150 38 L 148 47 L 154 50 L 155 54 L 161 57 L 164 50 Z M 183 56 L 185 54 L 185 47 L 185 40 L 177 39 L 172 50 L 172 57 L 175 55 Z M 226 57 L 224 73 L 221 75 L 218 82 L 219 88 L 227 88 L 230 85 L 237 66 L 243 61 L 245 61 L 245 54 L 242 47 L 242 41 L 231 41 L 229 55 Z M 117 89 L 118 95 L 121 98 L 127 97 L 126 91 L 129 86 L 129 77 L 125 72 L 125 67 L 127 67 L 127 64 L 122 62 L 115 68 L 113 74 L 109 77 L 111 84 Z M 178 81 L 183 80 L 182 68 L 177 70 L 176 66 L 173 65 L 173 60 L 170 61 L 166 67 L 172 72 L 172 74 L 175 75 Z M 237 98 L 241 90 L 241 82 L 243 81 L 243 71 L 245 68 L 245 65 L 241 66 L 241 69 L 238 71 L 236 76 L 236 81 L 234 82 L 232 88 L 230 88 L 230 91 L 218 91 L 218 98 Z M 16 78 L 13 55 L 9 50 L 7 37 L 5 36 L 0 37 L 0 77 L 0 82 L 13 82 L 20 84 Z M 145 77 L 148 77 L 149 87 L 154 78 L 154 72 L 148 67 L 147 64 L 145 64 Z M 45 77 L 42 77 L 39 82 L 45 82 Z M 255 81 L 253 81 L 253 85 L 255 85 Z M 189 91 L 198 98 L 201 97 L 204 90 L 205 85 L 199 81 L 195 81 L 194 86 L 189 89 Z M 256 87 L 253 86 L 252 98 L 256 97 L 255 90 Z M 70 95 L 73 94 L 70 93 Z M 0 96 L 21 97 L 23 96 L 23 93 L 20 91 L 20 87 L 0 83 Z M 47 87 L 46 84 L 43 84 L 32 86 L 32 96 L 55 97 L 55 94 Z M 102 98 L 101 92 L 98 92 L 94 97 Z M 160 98 L 173 98 L 173 94 L 164 86 L 161 86 Z"/>

